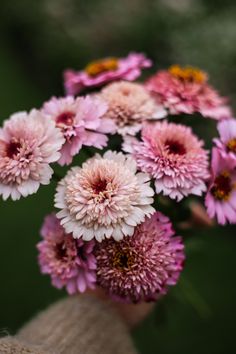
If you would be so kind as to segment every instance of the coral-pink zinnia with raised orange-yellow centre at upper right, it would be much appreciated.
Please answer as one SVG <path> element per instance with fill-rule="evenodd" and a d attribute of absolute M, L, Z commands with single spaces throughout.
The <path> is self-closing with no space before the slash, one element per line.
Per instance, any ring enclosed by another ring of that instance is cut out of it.
<path fill-rule="evenodd" d="M 226 99 L 207 80 L 207 74 L 199 69 L 173 65 L 152 76 L 146 87 L 170 114 L 200 113 L 216 120 L 230 118 L 232 112 L 226 106 Z"/>

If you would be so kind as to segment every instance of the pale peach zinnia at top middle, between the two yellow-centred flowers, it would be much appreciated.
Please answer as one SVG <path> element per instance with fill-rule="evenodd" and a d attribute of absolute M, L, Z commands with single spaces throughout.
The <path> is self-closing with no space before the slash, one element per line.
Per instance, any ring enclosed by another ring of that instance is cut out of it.
<path fill-rule="evenodd" d="M 103 88 L 100 97 L 108 104 L 106 117 L 113 120 L 121 135 L 135 135 L 144 121 L 164 118 L 167 114 L 141 84 L 114 82 Z"/>

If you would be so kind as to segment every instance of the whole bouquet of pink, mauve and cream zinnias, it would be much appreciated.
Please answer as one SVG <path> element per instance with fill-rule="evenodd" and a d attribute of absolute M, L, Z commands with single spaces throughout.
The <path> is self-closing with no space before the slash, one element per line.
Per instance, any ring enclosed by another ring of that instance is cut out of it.
<path fill-rule="evenodd" d="M 15 113 L 0 129 L 4 200 L 58 181 L 38 260 L 69 294 L 98 286 L 117 301 L 157 300 L 183 270 L 173 225 L 178 233 L 191 225 L 193 200 L 208 223 L 236 223 L 236 120 L 227 100 L 193 67 L 134 81 L 151 64 L 131 53 L 67 70 L 65 97 Z M 205 118 L 219 133 L 211 153 L 184 124 Z M 87 155 L 80 166 L 54 172 L 53 163 L 68 166 L 77 155 Z"/>

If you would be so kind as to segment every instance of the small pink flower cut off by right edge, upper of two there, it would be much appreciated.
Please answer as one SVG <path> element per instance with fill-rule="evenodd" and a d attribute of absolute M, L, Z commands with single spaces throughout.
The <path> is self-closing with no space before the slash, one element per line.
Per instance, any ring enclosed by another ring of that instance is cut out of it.
<path fill-rule="evenodd" d="M 224 158 L 231 157 L 236 161 L 236 120 L 227 119 L 218 123 L 219 139 L 214 139 Z"/>

